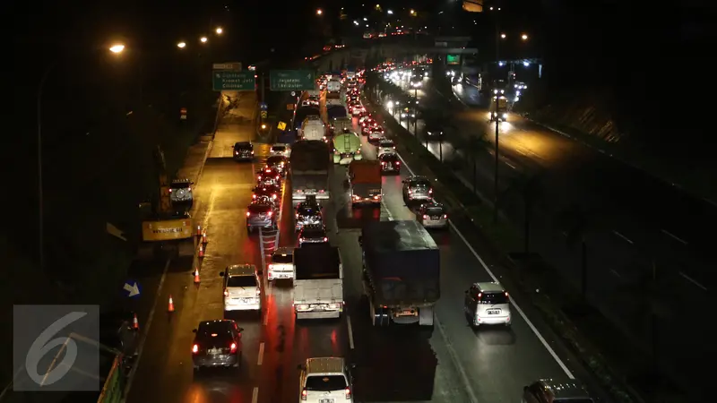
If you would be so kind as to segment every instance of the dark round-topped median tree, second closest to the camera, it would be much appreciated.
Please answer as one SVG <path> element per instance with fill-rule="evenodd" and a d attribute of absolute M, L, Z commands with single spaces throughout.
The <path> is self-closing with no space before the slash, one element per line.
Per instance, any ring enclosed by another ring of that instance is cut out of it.
<path fill-rule="evenodd" d="M 565 230 L 568 247 L 580 245 L 580 293 L 583 301 L 588 289 L 588 244 L 587 236 L 604 229 L 605 220 L 597 210 L 571 204 L 557 214 L 557 224 Z"/>

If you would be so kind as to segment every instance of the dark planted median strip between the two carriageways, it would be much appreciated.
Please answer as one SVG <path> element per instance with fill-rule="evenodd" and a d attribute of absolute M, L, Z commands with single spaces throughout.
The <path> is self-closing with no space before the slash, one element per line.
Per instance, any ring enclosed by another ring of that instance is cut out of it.
<path fill-rule="evenodd" d="M 414 135 L 389 116 L 390 114 L 384 110 L 381 110 L 380 114 L 388 117 L 386 124 L 398 138 L 399 152 L 404 159 L 408 160 L 414 174 L 431 178 L 436 193 L 440 195 L 438 199 L 451 209 L 453 221 L 470 223 L 478 230 L 479 238 L 485 240 L 489 249 L 505 258 L 505 261 L 509 263 L 506 264 L 511 277 L 509 281 L 520 287 L 524 295 L 531 297 L 531 305 L 541 313 L 551 330 L 560 339 L 563 339 L 566 346 L 594 374 L 602 388 L 620 403 L 644 401 L 640 397 L 640 393 L 626 382 L 626 374 L 618 370 L 618 365 L 610 362 L 608 357 L 602 354 L 602 349 L 593 345 L 581 332 L 581 328 L 584 329 L 585 326 L 578 327 L 574 320 L 566 314 L 566 311 L 572 311 L 573 306 L 580 304 L 576 296 L 566 294 L 566 290 L 572 287 L 566 284 L 561 286 L 555 271 L 541 261 L 533 262 L 530 256 L 523 257 L 521 253 L 515 253 L 515 251 L 522 250 L 523 236 L 521 233 L 505 219 L 498 219 L 495 222 L 492 206 L 480 201 L 478 196 L 457 178 L 451 168 L 436 159 Z M 548 279 L 550 280 L 548 281 Z M 549 283 L 552 283 L 553 286 L 544 287 Z M 540 289 L 540 293 L 534 292 L 536 289 Z M 590 329 L 613 328 L 607 319 L 602 318 L 594 311 L 591 312 L 590 317 L 593 322 L 596 322 L 591 323 Z M 583 323 L 583 325 L 585 324 Z M 618 330 L 612 334 L 613 339 L 616 334 L 618 334 Z M 625 345 L 626 343 L 623 341 L 621 344 Z M 627 353 L 634 353 L 634 351 L 626 351 L 625 354 Z M 677 402 L 682 400 L 664 399 L 661 401 Z"/>

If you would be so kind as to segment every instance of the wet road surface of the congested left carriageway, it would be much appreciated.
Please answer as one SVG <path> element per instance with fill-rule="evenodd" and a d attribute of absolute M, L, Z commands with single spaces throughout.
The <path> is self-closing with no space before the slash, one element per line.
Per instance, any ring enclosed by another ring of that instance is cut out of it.
<path fill-rule="evenodd" d="M 251 99 L 246 97 L 235 111 L 239 116 L 246 115 L 242 111 Z M 463 289 L 471 282 L 502 274 L 487 257 L 479 260 L 479 245 L 469 245 L 455 228 L 435 234 L 442 253 L 442 298 L 437 305 L 435 329 L 373 329 L 367 306 L 359 301 L 357 236 L 367 219 L 413 219 L 401 195 L 401 180 L 407 172 L 384 178 L 384 204 L 380 209 L 352 210 L 343 167 L 333 170 L 333 197 L 324 205 L 330 241 L 341 248 L 346 276 L 347 309 L 341 320 L 295 324 L 290 286 L 264 284 L 265 312 L 261 317 L 231 315 L 245 328 L 242 367 L 195 375 L 190 352 L 192 329 L 202 320 L 224 315 L 219 272 L 230 263 L 258 265 L 261 261 L 257 240 L 246 235 L 243 218 L 255 169 L 268 146 L 255 146 L 259 158 L 254 164 L 238 163 L 230 157 L 234 141 L 252 136 L 251 124 L 245 118 L 221 122 L 196 184 L 194 217 L 207 228 L 209 236 L 201 262 L 201 285 L 193 284 L 186 268 L 171 263 L 162 265 L 165 271 L 155 268 L 141 279 L 145 289 L 156 285 L 160 293 L 156 309 L 147 313 L 151 322 L 142 318 L 147 339 L 131 381 L 130 403 L 295 401 L 296 365 L 312 356 L 345 356 L 356 363 L 355 397 L 362 402 L 513 402 L 520 398 L 523 385 L 538 378 L 577 376 L 591 382 L 545 326 L 529 322 L 527 315 L 531 313 L 523 313 L 517 305 L 511 330 L 473 331 L 468 327 L 462 314 Z M 365 149 L 367 158 L 376 158 L 373 146 L 366 144 Z M 296 242 L 292 208 L 289 193 L 285 193 L 282 245 Z M 174 299 L 175 313 L 166 312 L 169 295 Z M 520 296 L 514 296 L 514 304 L 519 301 Z"/>

